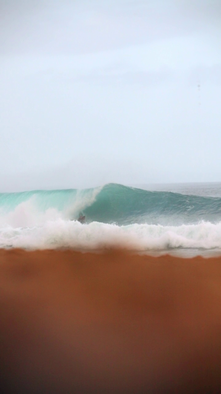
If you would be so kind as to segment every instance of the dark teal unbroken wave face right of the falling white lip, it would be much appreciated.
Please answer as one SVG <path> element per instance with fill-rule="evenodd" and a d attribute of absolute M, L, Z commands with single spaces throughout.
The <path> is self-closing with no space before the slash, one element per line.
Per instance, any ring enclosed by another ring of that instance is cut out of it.
<path fill-rule="evenodd" d="M 118 184 L 104 186 L 84 211 L 90 221 L 149 224 L 198 223 L 221 220 L 221 198 L 147 191 Z"/>

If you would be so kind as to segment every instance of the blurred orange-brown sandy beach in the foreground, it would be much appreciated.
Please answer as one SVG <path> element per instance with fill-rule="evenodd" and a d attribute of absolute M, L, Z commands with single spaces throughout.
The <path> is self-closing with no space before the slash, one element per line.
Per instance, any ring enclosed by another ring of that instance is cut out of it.
<path fill-rule="evenodd" d="M 221 257 L 0 250 L 5 393 L 220 392 Z"/>

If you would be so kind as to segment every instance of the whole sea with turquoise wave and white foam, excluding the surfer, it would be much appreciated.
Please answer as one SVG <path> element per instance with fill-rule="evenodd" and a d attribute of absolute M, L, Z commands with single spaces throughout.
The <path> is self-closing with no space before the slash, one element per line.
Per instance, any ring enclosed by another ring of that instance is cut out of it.
<path fill-rule="evenodd" d="M 1 193 L 0 247 L 221 255 L 221 182 Z"/>

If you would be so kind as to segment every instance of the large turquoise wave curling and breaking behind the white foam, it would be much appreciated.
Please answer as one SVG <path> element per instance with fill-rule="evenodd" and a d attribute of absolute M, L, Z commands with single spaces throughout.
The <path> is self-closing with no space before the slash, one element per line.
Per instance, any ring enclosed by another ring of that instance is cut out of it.
<path fill-rule="evenodd" d="M 30 226 L 53 219 L 181 225 L 221 220 L 221 198 L 147 191 L 119 184 L 92 189 L 35 190 L 0 194 L 0 225 Z"/>

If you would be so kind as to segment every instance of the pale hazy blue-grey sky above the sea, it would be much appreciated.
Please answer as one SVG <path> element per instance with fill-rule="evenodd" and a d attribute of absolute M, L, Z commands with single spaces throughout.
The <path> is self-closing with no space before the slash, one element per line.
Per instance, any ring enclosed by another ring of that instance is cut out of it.
<path fill-rule="evenodd" d="M 0 0 L 0 191 L 221 181 L 221 1 Z"/>

